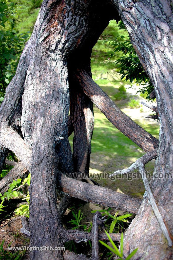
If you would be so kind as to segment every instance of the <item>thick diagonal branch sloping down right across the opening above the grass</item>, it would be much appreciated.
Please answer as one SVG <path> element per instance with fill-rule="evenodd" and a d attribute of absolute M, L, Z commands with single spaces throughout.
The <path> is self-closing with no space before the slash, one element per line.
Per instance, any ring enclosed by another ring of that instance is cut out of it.
<path fill-rule="evenodd" d="M 124 114 L 84 70 L 78 71 L 75 77 L 85 94 L 124 135 L 146 152 L 158 147 L 158 140 Z"/>

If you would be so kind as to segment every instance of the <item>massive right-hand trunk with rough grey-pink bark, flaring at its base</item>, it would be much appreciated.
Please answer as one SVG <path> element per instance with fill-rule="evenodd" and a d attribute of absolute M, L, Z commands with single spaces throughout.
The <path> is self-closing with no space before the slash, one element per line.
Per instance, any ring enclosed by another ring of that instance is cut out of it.
<path fill-rule="evenodd" d="M 162 218 L 172 234 L 172 3 L 171 1 L 114 1 L 129 32 L 139 59 L 154 84 L 160 127 L 160 145 L 150 182 Z M 163 174 L 163 175 L 162 175 Z M 148 242 L 150 241 L 150 242 Z M 134 256 L 141 259 L 171 259 L 171 249 L 145 196 L 136 218 L 124 237 L 125 254 L 138 247 Z"/>

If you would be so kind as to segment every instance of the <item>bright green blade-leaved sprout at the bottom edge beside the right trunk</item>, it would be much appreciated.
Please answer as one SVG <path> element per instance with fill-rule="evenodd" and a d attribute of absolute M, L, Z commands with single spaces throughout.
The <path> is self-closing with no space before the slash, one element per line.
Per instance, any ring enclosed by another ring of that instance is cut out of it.
<path fill-rule="evenodd" d="M 129 260 L 131 259 L 137 252 L 138 248 L 136 248 L 135 250 L 133 250 L 126 258 L 123 255 L 123 233 L 121 233 L 121 240 L 120 240 L 120 251 L 118 250 L 117 246 L 115 245 L 114 241 L 112 240 L 112 238 L 109 236 L 108 232 L 105 230 L 106 235 L 110 241 L 110 243 L 112 244 L 113 248 L 111 246 L 109 246 L 108 244 L 106 244 L 105 242 L 99 240 L 99 242 L 104 245 L 107 249 L 109 249 L 113 254 L 109 257 L 112 258 L 113 255 L 118 256 L 120 260 Z"/>

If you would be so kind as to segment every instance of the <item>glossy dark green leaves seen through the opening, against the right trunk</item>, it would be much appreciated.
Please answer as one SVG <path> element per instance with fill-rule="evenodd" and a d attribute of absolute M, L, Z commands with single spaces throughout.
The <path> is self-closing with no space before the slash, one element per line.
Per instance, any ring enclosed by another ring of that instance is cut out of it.
<path fill-rule="evenodd" d="M 121 21 L 118 25 L 120 29 L 125 29 Z M 114 50 L 114 53 L 110 54 L 111 57 L 115 57 L 117 53 L 121 53 L 121 57 L 115 61 L 116 68 L 119 69 L 119 73 L 122 75 L 121 79 L 129 80 L 131 83 L 135 81 L 140 85 L 144 85 L 138 92 L 146 92 L 147 99 L 150 99 L 149 94 L 153 91 L 154 87 L 140 63 L 129 36 L 124 37 L 124 35 L 119 35 L 114 38 L 113 42 L 109 41 L 109 44 Z"/>

